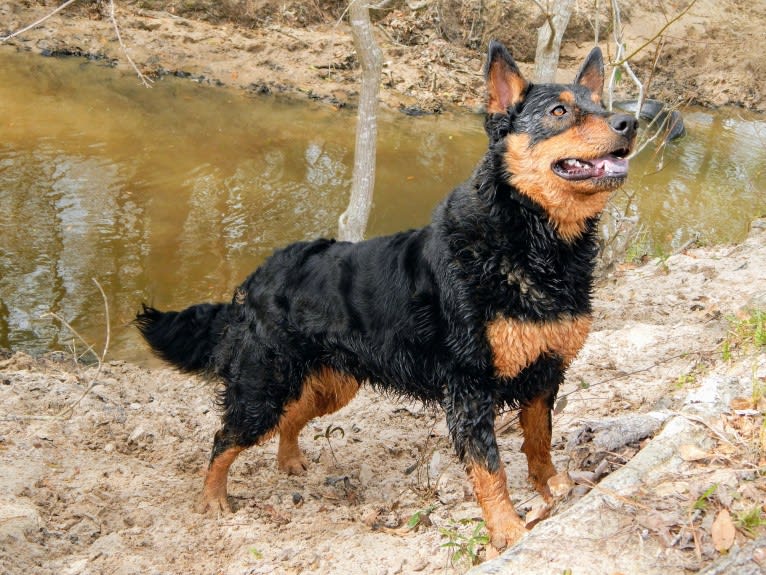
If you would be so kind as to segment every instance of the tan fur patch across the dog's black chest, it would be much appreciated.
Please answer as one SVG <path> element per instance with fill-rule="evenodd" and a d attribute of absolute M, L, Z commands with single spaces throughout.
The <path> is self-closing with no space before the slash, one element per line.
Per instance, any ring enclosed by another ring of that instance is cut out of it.
<path fill-rule="evenodd" d="M 553 322 L 493 320 L 487 325 L 487 339 L 497 374 L 515 377 L 544 353 L 560 355 L 568 366 L 585 343 L 591 323 L 589 316 Z"/>

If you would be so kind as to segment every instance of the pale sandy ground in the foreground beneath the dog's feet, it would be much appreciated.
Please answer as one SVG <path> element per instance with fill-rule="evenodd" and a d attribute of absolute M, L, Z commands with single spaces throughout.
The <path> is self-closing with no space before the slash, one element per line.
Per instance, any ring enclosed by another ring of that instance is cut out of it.
<path fill-rule="evenodd" d="M 766 308 L 764 269 L 760 220 L 742 245 L 621 270 L 598 289 L 595 328 L 570 370 L 554 424 L 554 461 L 583 485 L 554 515 L 588 491 L 582 477 L 608 476 L 645 442 L 604 448 L 593 433 L 582 434 L 594 422 L 676 410 L 712 373 L 766 388 L 766 350 L 754 347 L 743 327 L 753 309 Z M 304 431 L 312 462 L 306 477 L 277 471 L 274 442 L 253 448 L 233 466 L 234 514 L 203 516 L 194 504 L 217 427 L 212 383 L 122 362 L 99 372 L 62 354 L 5 357 L 1 572 L 343 574 L 363 566 L 395 574 L 469 566 L 451 565 L 444 544 L 466 543 L 480 510 L 439 413 L 365 391 Z M 71 417 L 49 417 L 91 383 Z M 711 535 L 717 513 L 740 517 L 763 504 L 766 406 L 762 398 L 744 401 L 711 424 L 725 441 L 711 431 L 696 446 L 704 454 L 683 472 L 664 477 L 662 489 L 646 486 L 624 517 L 625 553 L 652 548 L 662 572 L 697 571 L 719 554 Z M 500 444 L 513 499 L 528 513 L 538 502 L 525 480 L 513 415 L 501 418 Z M 713 484 L 717 491 L 690 519 Z M 424 510 L 429 519 L 408 528 Z M 753 534 L 740 528 L 736 539 L 744 544 L 758 533 L 762 526 Z M 566 548 L 565 541 L 551 544 Z"/>

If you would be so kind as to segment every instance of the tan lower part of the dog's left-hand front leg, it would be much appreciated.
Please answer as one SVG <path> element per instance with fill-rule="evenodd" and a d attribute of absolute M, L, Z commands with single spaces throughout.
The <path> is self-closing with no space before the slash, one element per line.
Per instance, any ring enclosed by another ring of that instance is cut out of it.
<path fill-rule="evenodd" d="M 473 482 L 492 546 L 502 550 L 513 545 L 526 533 L 526 528 L 511 503 L 503 465 L 500 464 L 500 468 L 492 472 L 473 464 L 468 467 L 468 475 Z"/>

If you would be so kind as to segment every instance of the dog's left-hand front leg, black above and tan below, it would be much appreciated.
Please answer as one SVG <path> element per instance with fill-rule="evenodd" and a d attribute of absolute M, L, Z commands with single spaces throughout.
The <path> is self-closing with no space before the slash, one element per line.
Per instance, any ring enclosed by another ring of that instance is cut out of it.
<path fill-rule="evenodd" d="M 447 424 L 460 459 L 473 482 L 492 547 L 505 549 L 526 528 L 513 508 L 505 468 L 495 438 L 495 403 L 490 391 L 456 385 L 445 402 Z"/>

